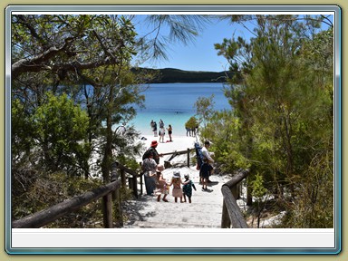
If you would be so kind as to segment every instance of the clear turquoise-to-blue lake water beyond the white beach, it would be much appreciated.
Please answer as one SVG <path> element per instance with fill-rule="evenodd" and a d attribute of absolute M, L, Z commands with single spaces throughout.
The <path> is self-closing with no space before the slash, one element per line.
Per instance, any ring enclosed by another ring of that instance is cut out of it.
<path fill-rule="evenodd" d="M 208 98 L 214 94 L 214 110 L 230 109 L 227 98 L 223 93 L 223 83 L 153 83 L 145 94 L 145 109 L 137 109 L 137 117 L 128 122 L 133 124 L 141 135 L 152 134 L 150 121 L 162 119 L 165 128 L 171 124 L 173 137 L 186 135 L 185 123 L 195 116 L 194 103 L 198 97 Z M 166 133 L 167 135 L 167 133 Z"/>

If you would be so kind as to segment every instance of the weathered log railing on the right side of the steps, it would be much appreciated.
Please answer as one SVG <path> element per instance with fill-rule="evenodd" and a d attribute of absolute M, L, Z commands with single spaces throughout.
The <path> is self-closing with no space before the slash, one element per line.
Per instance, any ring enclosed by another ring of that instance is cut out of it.
<path fill-rule="evenodd" d="M 248 228 L 246 219 L 243 217 L 237 205 L 239 197 L 239 184 L 243 179 L 247 178 L 249 170 L 242 170 L 231 180 L 227 181 L 221 187 L 223 200 L 221 228 Z"/>

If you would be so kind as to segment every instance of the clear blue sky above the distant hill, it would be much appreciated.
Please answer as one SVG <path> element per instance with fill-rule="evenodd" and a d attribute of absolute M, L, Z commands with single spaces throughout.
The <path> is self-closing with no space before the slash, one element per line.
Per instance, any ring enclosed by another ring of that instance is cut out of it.
<path fill-rule="evenodd" d="M 140 25 L 137 25 L 137 27 Z M 145 29 L 144 29 L 145 30 Z M 169 60 L 152 61 L 142 63 L 141 67 L 148 68 L 177 68 L 186 71 L 222 72 L 228 70 L 227 60 L 218 56 L 214 43 L 222 43 L 224 38 L 232 38 L 232 35 L 247 37 L 247 31 L 243 28 L 231 25 L 227 21 L 216 21 L 208 24 L 199 32 L 194 43 L 171 44 L 168 52 Z"/>

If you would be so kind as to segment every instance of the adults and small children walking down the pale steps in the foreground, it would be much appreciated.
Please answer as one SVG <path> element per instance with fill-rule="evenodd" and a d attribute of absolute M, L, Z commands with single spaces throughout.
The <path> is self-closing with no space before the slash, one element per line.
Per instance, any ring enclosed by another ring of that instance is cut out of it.
<path fill-rule="evenodd" d="M 179 171 L 174 171 L 170 182 L 167 182 L 167 180 L 163 178 L 162 171 L 164 170 L 164 166 L 160 164 L 160 157 L 163 157 L 163 154 L 156 150 L 158 144 L 157 140 L 153 140 L 149 150 L 142 156 L 143 161 L 141 169 L 143 170 L 147 195 L 157 196 L 157 201 L 160 201 L 162 197 L 163 201 L 168 202 L 167 196 L 172 186 L 171 194 L 175 202 L 178 202 L 178 198 L 180 198 L 181 203 L 187 202 L 188 198 L 189 203 L 191 203 L 192 189 L 197 190 L 195 184 L 189 179 L 189 174 L 184 175 L 185 180 L 183 181 Z M 199 170 L 199 183 L 202 184 L 203 191 L 208 190 L 209 176 L 213 173 L 212 163 L 214 163 L 214 160 L 211 156 L 213 156 L 214 153 L 208 151 L 209 147 L 210 142 L 207 140 L 202 148 L 204 163 Z"/>

